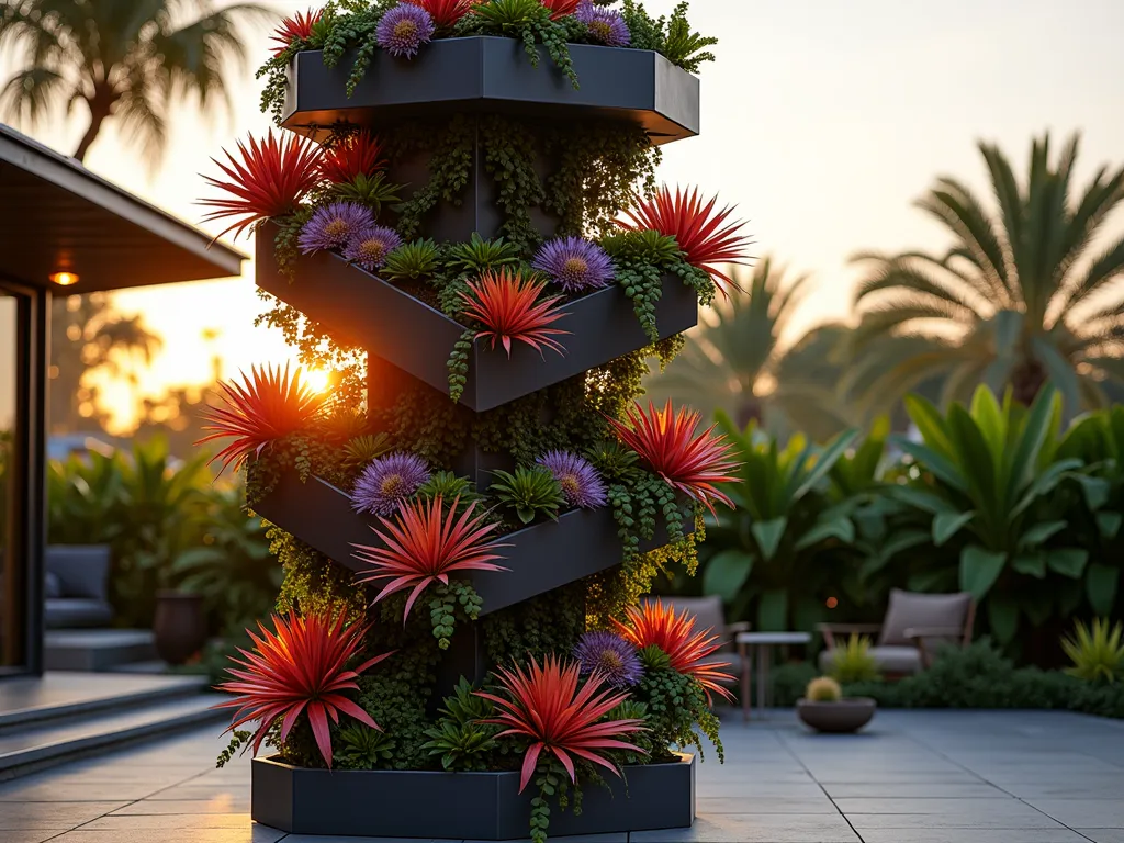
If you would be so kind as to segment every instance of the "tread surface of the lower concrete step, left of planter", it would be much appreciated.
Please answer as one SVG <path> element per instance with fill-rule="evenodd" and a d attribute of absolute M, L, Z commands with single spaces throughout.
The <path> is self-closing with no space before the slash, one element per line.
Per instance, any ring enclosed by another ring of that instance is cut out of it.
<path fill-rule="evenodd" d="M 211 710 L 211 706 L 221 699 L 220 695 L 200 694 L 187 699 L 133 707 L 126 711 L 116 708 L 99 715 L 42 724 L 18 733 L 0 735 L 0 769 L 58 754 L 54 750 L 64 753 L 71 746 L 78 751 L 91 743 L 97 744 L 99 738 L 125 736 L 136 729 L 161 724 L 176 725 L 185 719 L 194 722 L 209 717 L 219 719 L 226 715 Z"/>

